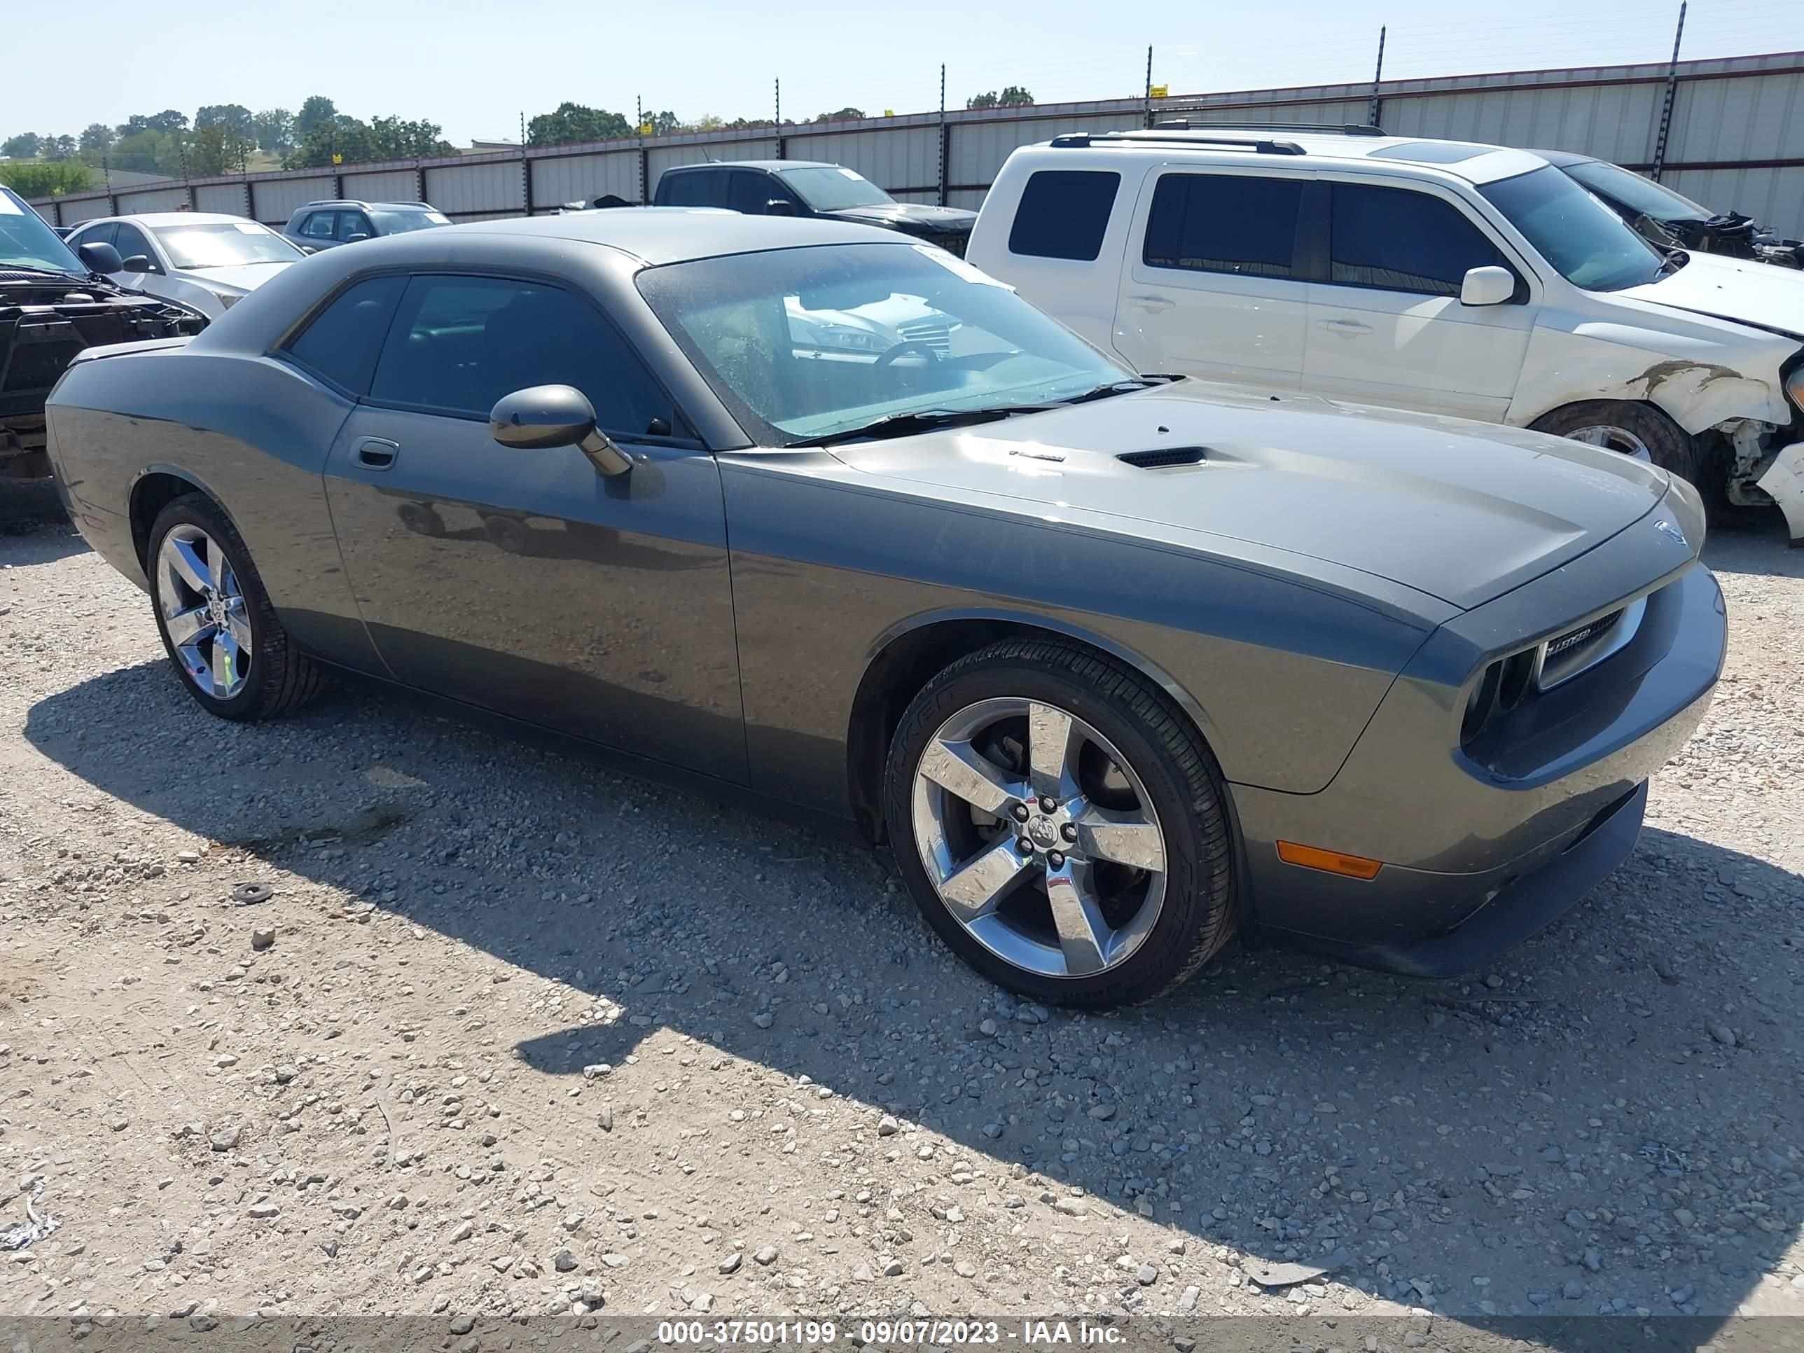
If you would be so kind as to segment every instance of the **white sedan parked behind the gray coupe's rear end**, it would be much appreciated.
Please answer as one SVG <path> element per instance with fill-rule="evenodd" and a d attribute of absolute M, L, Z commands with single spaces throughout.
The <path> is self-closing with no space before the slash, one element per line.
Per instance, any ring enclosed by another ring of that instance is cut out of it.
<path fill-rule="evenodd" d="M 110 244 L 124 267 L 108 274 L 126 290 L 143 290 L 218 319 L 289 263 L 307 254 L 276 231 L 244 216 L 211 211 L 153 211 L 83 222 L 69 240 Z"/>

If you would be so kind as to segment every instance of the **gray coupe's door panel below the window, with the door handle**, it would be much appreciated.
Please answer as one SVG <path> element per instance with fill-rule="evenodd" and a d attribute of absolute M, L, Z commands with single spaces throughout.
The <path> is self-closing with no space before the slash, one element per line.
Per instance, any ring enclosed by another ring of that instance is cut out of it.
<path fill-rule="evenodd" d="M 357 604 L 408 686 L 743 781 L 720 473 L 626 449 L 603 478 L 575 447 L 359 408 L 327 464 Z"/>

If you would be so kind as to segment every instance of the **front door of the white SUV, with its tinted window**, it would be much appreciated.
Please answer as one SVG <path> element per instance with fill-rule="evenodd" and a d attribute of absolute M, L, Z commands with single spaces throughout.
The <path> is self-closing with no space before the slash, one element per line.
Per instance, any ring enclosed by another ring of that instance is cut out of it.
<path fill-rule="evenodd" d="M 1321 395 L 1501 422 L 1539 307 L 1526 269 L 1452 198 L 1328 184 L 1328 276 L 1310 285 L 1302 384 Z M 1459 303 L 1467 269 L 1506 267 L 1517 299 Z"/>

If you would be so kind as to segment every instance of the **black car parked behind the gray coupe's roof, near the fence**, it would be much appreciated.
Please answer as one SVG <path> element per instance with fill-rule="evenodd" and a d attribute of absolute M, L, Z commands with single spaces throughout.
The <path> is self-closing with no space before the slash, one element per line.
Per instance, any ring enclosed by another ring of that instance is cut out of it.
<path fill-rule="evenodd" d="M 902 231 L 960 256 L 978 220 L 976 211 L 897 202 L 857 170 L 817 161 L 678 164 L 658 179 L 653 206 L 850 220 Z"/>

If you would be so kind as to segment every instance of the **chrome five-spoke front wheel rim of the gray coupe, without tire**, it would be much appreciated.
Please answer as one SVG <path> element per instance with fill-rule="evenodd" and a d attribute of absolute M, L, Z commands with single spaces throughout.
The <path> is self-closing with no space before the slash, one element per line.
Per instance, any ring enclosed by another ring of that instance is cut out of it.
<path fill-rule="evenodd" d="M 1003 962 L 1046 978 L 1124 963 L 1165 904 L 1165 835 L 1140 776 L 1054 704 L 992 698 L 920 756 L 911 812 L 927 879 Z"/>

